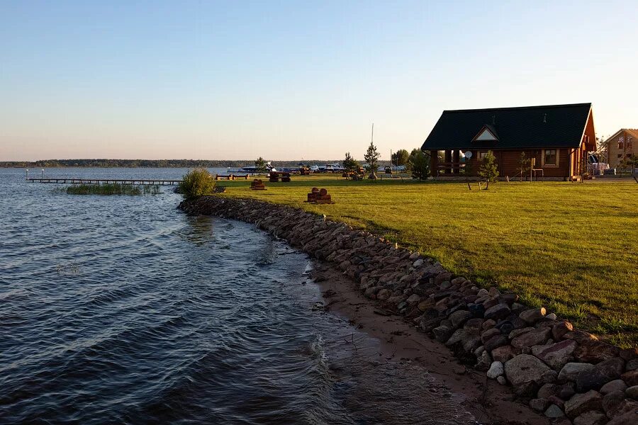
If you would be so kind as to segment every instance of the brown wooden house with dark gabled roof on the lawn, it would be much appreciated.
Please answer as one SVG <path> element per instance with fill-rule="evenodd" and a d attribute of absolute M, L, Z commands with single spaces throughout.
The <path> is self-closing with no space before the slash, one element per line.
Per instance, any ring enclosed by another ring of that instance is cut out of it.
<path fill-rule="evenodd" d="M 588 152 L 596 149 L 591 103 L 443 111 L 421 149 L 430 152 L 437 179 L 464 177 L 466 164 L 469 176 L 476 176 L 488 151 L 501 179 L 519 178 L 522 152 L 533 161 L 532 175 L 578 179 Z"/>

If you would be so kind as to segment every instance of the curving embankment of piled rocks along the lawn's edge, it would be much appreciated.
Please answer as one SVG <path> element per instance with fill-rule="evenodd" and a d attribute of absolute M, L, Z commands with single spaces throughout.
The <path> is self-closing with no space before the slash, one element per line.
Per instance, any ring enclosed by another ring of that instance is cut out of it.
<path fill-rule="evenodd" d="M 325 217 L 259 200 L 203 197 L 190 214 L 254 223 L 335 264 L 384 310 L 401 314 L 556 423 L 638 424 L 638 348 L 620 349 L 515 294 L 478 288 L 440 263 Z"/>

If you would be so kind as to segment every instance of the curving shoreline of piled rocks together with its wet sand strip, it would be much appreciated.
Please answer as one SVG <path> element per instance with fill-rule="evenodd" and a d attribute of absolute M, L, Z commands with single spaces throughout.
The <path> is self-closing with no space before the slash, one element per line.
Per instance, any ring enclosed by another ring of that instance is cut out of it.
<path fill-rule="evenodd" d="M 179 209 L 250 222 L 315 257 L 330 277 L 318 279 L 332 295 L 329 307 L 367 327 L 386 356 L 425 362 L 466 396 L 477 418 L 488 411 L 505 424 L 521 423 L 521 415 L 530 424 L 638 421 L 638 348 L 607 344 L 513 293 L 478 288 L 418 252 L 325 216 L 219 196 Z M 342 278 L 349 290 L 337 288 Z M 413 355 L 415 346 L 425 359 Z"/>

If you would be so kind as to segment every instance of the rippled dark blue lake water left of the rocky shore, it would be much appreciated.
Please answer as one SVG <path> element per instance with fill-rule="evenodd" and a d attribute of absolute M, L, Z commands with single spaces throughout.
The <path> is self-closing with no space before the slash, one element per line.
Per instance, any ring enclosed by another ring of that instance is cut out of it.
<path fill-rule="evenodd" d="M 242 222 L 187 217 L 169 186 L 156 196 L 72 196 L 24 178 L 0 169 L 0 423 L 468 417 L 454 397 L 432 395 L 418 366 L 379 361 L 379 341 L 313 310 L 322 298 L 306 277 L 312 264 L 284 242 Z"/>

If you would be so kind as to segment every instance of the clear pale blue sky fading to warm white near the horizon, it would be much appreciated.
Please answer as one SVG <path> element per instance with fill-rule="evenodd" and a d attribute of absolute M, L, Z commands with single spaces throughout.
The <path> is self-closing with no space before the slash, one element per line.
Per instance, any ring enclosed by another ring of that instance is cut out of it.
<path fill-rule="evenodd" d="M 638 1 L 0 1 L 0 161 L 381 159 L 446 109 L 638 128 Z"/>

